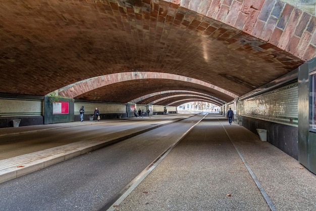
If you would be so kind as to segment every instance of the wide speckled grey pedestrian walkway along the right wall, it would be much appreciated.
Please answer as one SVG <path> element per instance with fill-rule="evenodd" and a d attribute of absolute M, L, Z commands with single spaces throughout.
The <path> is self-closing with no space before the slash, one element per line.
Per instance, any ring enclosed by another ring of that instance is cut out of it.
<path fill-rule="evenodd" d="M 256 134 L 207 116 L 108 211 L 316 210 L 316 176 Z"/>

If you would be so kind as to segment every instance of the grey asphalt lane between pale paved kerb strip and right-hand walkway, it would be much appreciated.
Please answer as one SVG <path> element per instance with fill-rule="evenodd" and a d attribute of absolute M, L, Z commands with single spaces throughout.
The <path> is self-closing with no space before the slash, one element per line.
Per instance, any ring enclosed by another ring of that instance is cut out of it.
<path fill-rule="evenodd" d="M 2 183 L 0 210 L 99 210 L 111 205 L 124 187 L 202 117 L 196 115 L 165 125 Z M 72 137 L 81 141 L 85 135 L 97 137 L 98 133 L 111 130 L 98 128 L 101 125 L 91 126 L 94 130 L 85 128 L 87 131 L 82 133 L 72 128 L 60 129 L 58 133 L 43 131 L 38 136 L 42 142 L 54 136 L 56 140 Z"/>

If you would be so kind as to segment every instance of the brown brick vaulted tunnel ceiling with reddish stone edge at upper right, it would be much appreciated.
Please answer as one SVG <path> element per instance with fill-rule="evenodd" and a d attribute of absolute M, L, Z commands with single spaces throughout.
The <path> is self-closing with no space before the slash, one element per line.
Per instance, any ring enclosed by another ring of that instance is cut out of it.
<path fill-rule="evenodd" d="M 241 96 L 313 58 L 315 22 L 272 0 L 2 0 L 0 92 L 42 96 L 101 75 L 162 72 Z M 112 83 L 75 98 L 129 102 L 167 90 L 234 99 L 171 78 Z"/>

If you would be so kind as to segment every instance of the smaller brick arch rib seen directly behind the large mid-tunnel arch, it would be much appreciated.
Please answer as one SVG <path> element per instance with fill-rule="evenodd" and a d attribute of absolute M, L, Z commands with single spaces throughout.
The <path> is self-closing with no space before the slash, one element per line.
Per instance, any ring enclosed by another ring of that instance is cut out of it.
<path fill-rule="evenodd" d="M 187 91 L 187 90 L 168 90 L 168 91 L 163 91 L 163 92 L 150 93 L 148 95 L 144 95 L 144 96 L 141 96 L 139 98 L 136 98 L 130 102 L 139 103 L 139 104 L 148 104 L 148 103 L 155 101 L 157 99 L 161 99 L 161 98 L 168 97 L 171 95 L 176 95 L 176 94 L 187 94 L 187 95 L 195 94 L 195 95 L 200 95 L 200 96 L 212 98 L 214 101 L 217 101 L 220 104 L 226 103 L 225 101 L 222 101 L 218 98 L 215 98 L 214 96 L 210 96 L 210 95 L 207 95 L 204 93 L 199 93 L 199 92 Z"/>

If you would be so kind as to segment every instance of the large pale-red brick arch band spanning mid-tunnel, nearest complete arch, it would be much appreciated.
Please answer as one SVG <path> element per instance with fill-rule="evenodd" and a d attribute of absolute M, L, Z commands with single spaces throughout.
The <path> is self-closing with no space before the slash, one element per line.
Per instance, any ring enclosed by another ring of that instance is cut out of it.
<path fill-rule="evenodd" d="M 89 92 L 91 90 L 110 85 L 112 83 L 127 81 L 127 80 L 137 80 L 137 79 L 146 79 L 146 78 L 160 78 L 160 79 L 172 79 L 172 80 L 180 80 L 191 83 L 197 83 L 198 85 L 205 86 L 210 89 L 217 90 L 221 93 L 224 93 L 232 98 L 237 98 L 238 96 L 219 88 L 210 83 L 204 82 L 202 80 L 198 80 L 191 77 L 186 77 L 182 75 L 175 75 L 170 73 L 162 73 L 162 72 L 122 72 L 122 73 L 114 73 L 108 75 L 97 76 L 89 79 L 85 79 L 82 81 L 78 81 L 77 83 L 73 83 L 72 85 L 66 86 L 64 88 L 59 89 L 59 95 L 62 97 L 75 98 L 83 93 Z"/>

